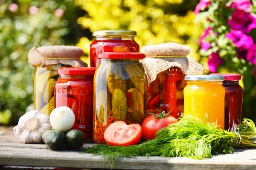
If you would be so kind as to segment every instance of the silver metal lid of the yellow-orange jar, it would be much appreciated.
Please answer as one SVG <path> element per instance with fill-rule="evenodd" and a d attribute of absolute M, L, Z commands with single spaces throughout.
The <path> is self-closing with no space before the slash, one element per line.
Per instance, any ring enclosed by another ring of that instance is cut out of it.
<path fill-rule="evenodd" d="M 223 81 L 224 77 L 221 75 L 188 75 L 185 76 L 186 81 Z"/>

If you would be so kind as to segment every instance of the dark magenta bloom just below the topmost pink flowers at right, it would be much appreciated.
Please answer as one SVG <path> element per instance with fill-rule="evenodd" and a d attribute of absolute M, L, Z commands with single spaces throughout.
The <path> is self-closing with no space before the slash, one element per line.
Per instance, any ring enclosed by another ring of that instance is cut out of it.
<path fill-rule="evenodd" d="M 249 33 L 253 28 L 256 28 L 256 18 L 251 14 L 244 13 L 244 11 L 234 11 L 227 24 L 231 29 Z"/>

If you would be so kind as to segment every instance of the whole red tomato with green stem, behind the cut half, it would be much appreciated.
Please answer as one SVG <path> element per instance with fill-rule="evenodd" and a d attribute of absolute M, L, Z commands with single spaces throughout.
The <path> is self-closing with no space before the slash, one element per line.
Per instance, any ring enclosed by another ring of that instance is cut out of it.
<path fill-rule="evenodd" d="M 147 116 L 142 122 L 142 139 L 154 139 L 157 130 L 162 129 L 163 127 L 167 127 L 169 124 L 177 123 L 178 120 L 163 111 L 162 113 L 151 114 Z"/>

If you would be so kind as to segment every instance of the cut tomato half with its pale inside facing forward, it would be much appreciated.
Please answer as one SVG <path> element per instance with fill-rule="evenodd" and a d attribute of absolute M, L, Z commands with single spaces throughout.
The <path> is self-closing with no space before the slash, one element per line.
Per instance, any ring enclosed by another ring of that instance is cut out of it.
<path fill-rule="evenodd" d="M 116 121 L 109 125 L 105 132 L 105 141 L 111 146 L 127 146 L 140 142 L 141 126 L 137 123 L 126 125 L 123 121 Z"/>

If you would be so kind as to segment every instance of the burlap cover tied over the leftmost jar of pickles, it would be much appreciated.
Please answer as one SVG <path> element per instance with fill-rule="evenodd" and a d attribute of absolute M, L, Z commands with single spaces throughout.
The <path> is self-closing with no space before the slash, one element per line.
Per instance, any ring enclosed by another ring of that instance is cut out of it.
<path fill-rule="evenodd" d="M 70 65 L 72 67 L 87 67 L 80 57 L 84 51 L 75 46 L 54 45 L 33 47 L 29 51 L 29 64 L 33 67 L 46 67 L 48 65 Z"/>

